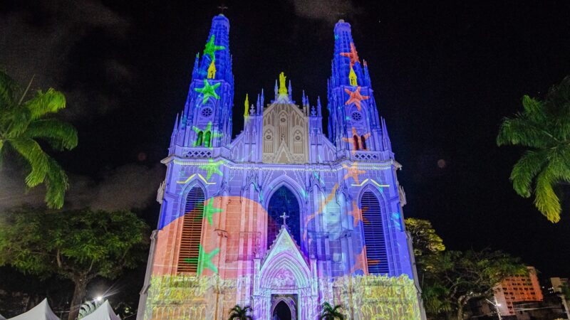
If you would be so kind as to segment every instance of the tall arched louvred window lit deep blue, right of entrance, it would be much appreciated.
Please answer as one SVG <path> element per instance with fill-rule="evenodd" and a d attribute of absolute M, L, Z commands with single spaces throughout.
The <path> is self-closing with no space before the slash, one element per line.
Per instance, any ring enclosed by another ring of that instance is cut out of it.
<path fill-rule="evenodd" d="M 368 273 L 386 274 L 389 272 L 388 253 L 386 252 L 382 212 L 378 198 L 370 191 L 362 195 L 361 212 L 364 221 L 364 245 L 366 246 Z"/>

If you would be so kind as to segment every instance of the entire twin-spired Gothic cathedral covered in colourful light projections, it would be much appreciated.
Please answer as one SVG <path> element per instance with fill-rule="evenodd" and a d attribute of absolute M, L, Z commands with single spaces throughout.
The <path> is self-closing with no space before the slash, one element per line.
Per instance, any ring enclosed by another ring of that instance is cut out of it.
<path fill-rule="evenodd" d="M 138 319 L 228 319 L 236 305 L 318 319 L 325 302 L 346 319 L 424 318 L 400 164 L 343 20 L 327 89 L 327 134 L 321 100 L 297 104 L 281 73 L 271 100 L 246 97 L 232 139 L 229 21 L 212 19 L 162 160 Z"/>

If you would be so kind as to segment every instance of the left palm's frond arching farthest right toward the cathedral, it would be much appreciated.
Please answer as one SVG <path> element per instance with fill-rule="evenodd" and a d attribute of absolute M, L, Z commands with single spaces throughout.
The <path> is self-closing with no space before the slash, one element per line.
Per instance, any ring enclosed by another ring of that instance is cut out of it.
<path fill-rule="evenodd" d="M 46 139 L 55 149 L 73 149 L 77 146 L 77 130 L 58 119 L 40 119 L 31 122 L 24 132 L 28 138 Z"/>

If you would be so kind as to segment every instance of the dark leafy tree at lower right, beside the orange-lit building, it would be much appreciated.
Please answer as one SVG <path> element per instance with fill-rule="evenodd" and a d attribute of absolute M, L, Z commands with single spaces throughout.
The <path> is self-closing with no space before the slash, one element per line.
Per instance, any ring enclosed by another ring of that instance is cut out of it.
<path fill-rule="evenodd" d="M 527 272 L 517 258 L 500 251 L 446 251 L 425 260 L 423 298 L 426 311 L 464 319 L 474 298 L 490 297 L 504 278 Z"/>

